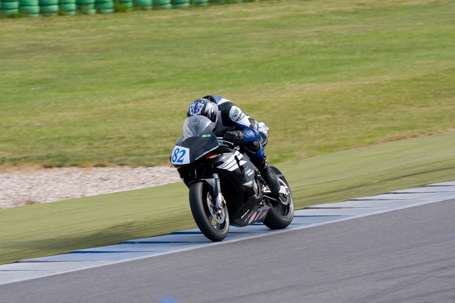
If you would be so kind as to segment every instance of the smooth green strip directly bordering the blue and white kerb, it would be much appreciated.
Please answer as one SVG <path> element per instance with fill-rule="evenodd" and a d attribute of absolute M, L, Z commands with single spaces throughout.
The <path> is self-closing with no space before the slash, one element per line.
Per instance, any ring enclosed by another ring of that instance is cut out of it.
<path fill-rule="evenodd" d="M 278 164 L 296 209 L 455 179 L 455 131 Z M 0 264 L 196 228 L 182 183 L 0 209 Z"/>

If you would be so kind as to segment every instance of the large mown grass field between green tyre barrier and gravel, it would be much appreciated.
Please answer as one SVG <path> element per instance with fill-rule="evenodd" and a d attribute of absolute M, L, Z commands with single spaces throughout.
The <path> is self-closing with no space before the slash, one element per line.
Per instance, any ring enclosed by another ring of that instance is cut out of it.
<path fill-rule="evenodd" d="M 232 99 L 272 163 L 455 125 L 455 2 L 283 0 L 0 20 L 0 165 L 157 165 Z"/>

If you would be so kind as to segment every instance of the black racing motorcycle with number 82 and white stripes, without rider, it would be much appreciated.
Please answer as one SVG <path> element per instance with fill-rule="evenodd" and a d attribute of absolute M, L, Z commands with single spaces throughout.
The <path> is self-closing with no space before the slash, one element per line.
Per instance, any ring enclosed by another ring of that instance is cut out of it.
<path fill-rule="evenodd" d="M 212 241 L 226 238 L 229 225 L 243 227 L 262 222 L 268 228 L 286 228 L 294 215 L 288 182 L 274 167 L 281 184 L 272 194 L 259 171 L 240 147 L 213 134 L 216 125 L 205 116 L 191 116 L 172 150 L 171 162 L 190 189 L 191 212 L 197 227 Z M 259 123 L 259 141 L 265 147 L 268 128 Z"/>

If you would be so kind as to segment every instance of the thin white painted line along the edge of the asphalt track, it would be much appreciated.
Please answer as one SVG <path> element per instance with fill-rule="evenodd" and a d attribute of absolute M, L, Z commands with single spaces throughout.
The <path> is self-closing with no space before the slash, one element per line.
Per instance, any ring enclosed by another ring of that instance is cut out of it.
<path fill-rule="evenodd" d="M 300 230 L 300 229 L 304 229 L 304 228 L 311 228 L 311 227 L 320 226 L 320 225 L 324 225 L 324 224 L 331 224 L 331 223 L 346 221 L 346 220 L 350 220 L 350 219 L 357 219 L 357 218 L 367 217 L 367 216 L 371 216 L 371 215 L 374 215 L 374 214 L 388 213 L 388 212 L 391 212 L 391 211 L 394 211 L 394 210 L 399 210 L 399 209 L 407 209 L 407 208 L 420 206 L 420 205 L 425 205 L 425 204 L 448 201 L 448 200 L 451 200 L 453 198 L 455 198 L 455 195 L 454 196 L 450 196 L 450 197 L 446 197 L 443 200 L 439 200 L 438 199 L 438 200 L 433 200 L 433 201 L 420 202 L 420 203 L 416 203 L 416 204 L 410 204 L 410 205 L 405 205 L 405 206 L 401 206 L 401 207 L 396 207 L 396 208 L 393 208 L 393 209 L 378 210 L 378 211 L 375 211 L 373 213 L 368 213 L 368 214 L 359 214 L 359 215 L 349 216 L 347 218 L 335 219 L 335 220 L 331 220 L 331 221 L 325 221 L 325 222 L 314 223 L 314 224 L 308 224 L 308 225 L 305 225 L 305 226 L 282 229 L 282 230 L 277 230 L 277 231 L 269 232 L 269 233 L 261 233 L 261 234 L 258 234 L 258 235 L 244 237 L 244 238 L 239 238 L 239 239 L 232 239 L 232 240 L 227 240 L 227 241 L 207 243 L 207 244 L 192 246 L 192 247 L 188 247 L 188 248 L 179 248 L 179 249 L 169 250 L 167 252 L 153 253 L 153 254 L 149 254 L 149 255 L 141 256 L 141 257 L 123 259 L 123 260 L 118 260 L 118 261 L 91 261 L 91 262 L 102 262 L 102 264 L 96 264 L 96 265 L 86 266 L 86 267 L 82 267 L 82 268 L 74 268 L 74 269 L 62 270 L 62 271 L 58 271 L 58 272 L 54 272 L 54 273 L 46 273 L 46 274 L 42 274 L 42 275 L 36 275 L 36 276 L 33 276 L 33 277 L 19 278 L 19 279 L 15 279 L 15 280 L 11 280 L 11 281 L 0 282 L 0 285 L 20 282 L 20 281 L 26 281 L 26 280 L 32 280 L 32 279 L 36 279 L 36 278 L 44 278 L 44 277 L 53 276 L 53 275 L 62 274 L 62 273 L 71 273 L 71 272 L 75 272 L 75 271 L 79 271 L 79 270 L 84 270 L 84 269 L 89 269 L 89 268 L 96 268 L 96 267 L 101 267 L 101 266 L 106 266 L 106 265 L 111 265 L 111 264 L 125 263 L 125 262 L 129 262 L 129 261 L 134 261 L 134 260 L 152 258 L 152 257 L 162 256 L 162 255 L 171 254 L 171 253 L 180 253 L 180 252 L 184 252 L 184 251 L 188 251 L 188 250 L 204 248 L 204 247 L 209 247 L 209 246 L 214 246 L 214 245 L 222 245 L 222 244 L 233 243 L 233 242 L 238 242 L 238 241 L 243 241 L 243 240 L 249 240 L 249 239 L 253 239 L 253 238 L 260 238 L 260 237 L 265 237 L 265 236 L 268 236 L 268 235 L 271 235 L 271 234 L 286 233 L 286 232 L 290 232 L 290 231 L 294 231 L 294 230 Z M 29 263 L 29 262 L 22 262 L 22 263 Z M 40 262 L 30 262 L 30 263 L 40 263 Z M 42 262 L 42 263 L 45 263 L 45 262 Z M 54 263 L 54 262 L 46 262 L 46 263 Z"/>

